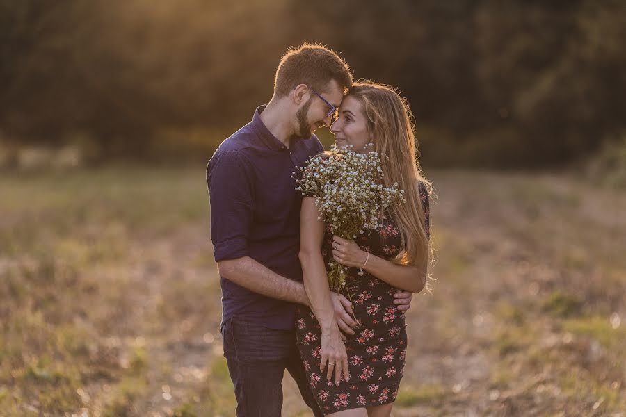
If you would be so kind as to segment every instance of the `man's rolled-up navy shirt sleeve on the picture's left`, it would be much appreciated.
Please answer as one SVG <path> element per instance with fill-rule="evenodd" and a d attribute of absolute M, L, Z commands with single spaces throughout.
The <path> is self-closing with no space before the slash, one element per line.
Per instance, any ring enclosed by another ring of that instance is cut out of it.
<path fill-rule="evenodd" d="M 225 152 L 209 162 L 207 183 L 215 261 L 248 256 L 254 206 L 252 166 L 238 152 Z"/>

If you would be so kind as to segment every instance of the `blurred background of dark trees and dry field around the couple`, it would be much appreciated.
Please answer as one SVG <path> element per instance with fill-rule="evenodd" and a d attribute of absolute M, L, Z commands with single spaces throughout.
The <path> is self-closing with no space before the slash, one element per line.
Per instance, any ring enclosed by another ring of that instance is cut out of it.
<path fill-rule="evenodd" d="M 435 186 L 394 416 L 623 416 L 624 39 L 611 0 L 0 0 L 0 416 L 234 415 L 204 165 L 302 42 L 401 90 Z"/>

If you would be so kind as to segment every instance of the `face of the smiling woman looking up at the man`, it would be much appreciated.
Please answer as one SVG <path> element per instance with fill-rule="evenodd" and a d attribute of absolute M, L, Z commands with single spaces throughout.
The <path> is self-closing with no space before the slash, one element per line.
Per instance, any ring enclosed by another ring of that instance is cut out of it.
<path fill-rule="evenodd" d="M 361 101 L 354 97 L 344 97 L 339 106 L 339 117 L 330 126 L 335 135 L 337 147 L 348 147 L 354 152 L 365 152 L 365 145 L 371 142 L 367 131 L 367 117 Z"/>

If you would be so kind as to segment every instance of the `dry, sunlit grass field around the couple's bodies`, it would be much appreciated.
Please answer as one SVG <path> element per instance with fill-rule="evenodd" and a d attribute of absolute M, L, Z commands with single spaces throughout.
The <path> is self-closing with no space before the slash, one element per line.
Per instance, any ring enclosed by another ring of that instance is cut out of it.
<path fill-rule="evenodd" d="M 431 179 L 393 415 L 626 416 L 626 191 Z M 0 175 L 0 416 L 234 416 L 220 313 L 204 167 Z"/>

